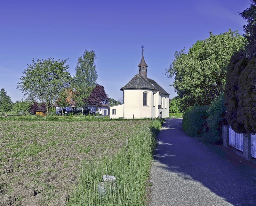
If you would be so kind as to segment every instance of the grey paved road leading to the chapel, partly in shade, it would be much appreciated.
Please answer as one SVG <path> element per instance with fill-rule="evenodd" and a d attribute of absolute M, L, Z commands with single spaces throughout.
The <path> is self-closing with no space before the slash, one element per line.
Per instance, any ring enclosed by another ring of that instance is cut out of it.
<path fill-rule="evenodd" d="M 151 206 L 256 206 L 256 169 L 235 166 L 189 137 L 181 119 L 167 119 L 158 134 L 151 170 Z"/>

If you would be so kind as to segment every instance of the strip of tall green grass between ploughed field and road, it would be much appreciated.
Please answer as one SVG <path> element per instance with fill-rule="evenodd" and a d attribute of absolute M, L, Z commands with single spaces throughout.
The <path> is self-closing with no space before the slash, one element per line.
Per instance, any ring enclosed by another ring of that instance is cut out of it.
<path fill-rule="evenodd" d="M 146 182 L 161 124 L 161 120 L 156 119 L 131 131 L 116 155 L 104 153 L 98 159 L 91 157 L 82 161 L 78 186 L 68 205 L 145 205 Z M 107 190 L 102 196 L 98 184 L 104 174 L 115 176 L 116 185 L 114 191 Z"/>

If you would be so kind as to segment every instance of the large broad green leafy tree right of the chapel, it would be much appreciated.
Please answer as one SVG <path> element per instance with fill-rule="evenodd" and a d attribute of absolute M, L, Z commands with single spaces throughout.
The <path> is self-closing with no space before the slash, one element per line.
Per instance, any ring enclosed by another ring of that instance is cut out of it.
<path fill-rule="evenodd" d="M 244 37 L 237 31 L 220 35 L 210 32 L 208 39 L 197 41 L 188 53 L 175 52 L 174 60 L 166 70 L 173 83 L 183 110 L 194 105 L 210 105 L 224 90 L 226 67 L 234 52 L 244 47 Z"/>

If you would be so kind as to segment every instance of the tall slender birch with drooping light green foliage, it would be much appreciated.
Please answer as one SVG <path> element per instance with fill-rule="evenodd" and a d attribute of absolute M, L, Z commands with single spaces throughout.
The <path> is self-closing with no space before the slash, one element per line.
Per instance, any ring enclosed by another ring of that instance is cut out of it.
<path fill-rule="evenodd" d="M 82 107 L 82 115 L 84 115 L 86 99 L 88 99 L 93 87 L 96 86 L 98 75 L 95 70 L 95 59 L 96 55 L 93 51 L 85 50 L 83 56 L 79 57 L 76 62 L 73 99 L 78 107 Z"/>

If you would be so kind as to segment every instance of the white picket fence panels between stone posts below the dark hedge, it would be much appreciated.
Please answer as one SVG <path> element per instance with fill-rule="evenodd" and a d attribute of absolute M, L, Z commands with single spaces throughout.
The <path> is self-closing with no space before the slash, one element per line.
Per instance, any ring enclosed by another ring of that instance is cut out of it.
<path fill-rule="evenodd" d="M 238 134 L 229 126 L 229 145 L 240 151 L 244 151 L 244 134 Z M 251 155 L 256 158 L 256 134 L 251 134 Z"/>

